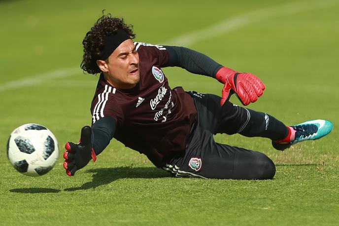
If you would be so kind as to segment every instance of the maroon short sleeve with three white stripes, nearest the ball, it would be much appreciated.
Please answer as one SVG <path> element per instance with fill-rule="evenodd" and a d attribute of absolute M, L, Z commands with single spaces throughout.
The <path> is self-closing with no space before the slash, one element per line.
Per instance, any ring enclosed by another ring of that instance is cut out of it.
<path fill-rule="evenodd" d="M 109 85 L 105 85 L 102 92 L 98 93 L 92 102 L 92 125 L 104 116 L 114 118 L 117 125 L 124 122 L 124 113 L 115 98 L 116 89 Z"/>

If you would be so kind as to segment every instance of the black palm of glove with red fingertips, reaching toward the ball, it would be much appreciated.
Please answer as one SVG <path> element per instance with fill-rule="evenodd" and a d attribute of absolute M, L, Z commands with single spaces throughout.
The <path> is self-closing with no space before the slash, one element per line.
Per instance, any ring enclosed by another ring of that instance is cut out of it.
<path fill-rule="evenodd" d="M 81 138 L 78 144 L 67 142 L 64 152 L 64 168 L 68 176 L 74 176 L 75 172 L 85 167 L 88 162 L 93 159 L 97 160 L 97 155 L 91 145 L 92 129 L 89 126 L 84 126 L 81 129 Z"/>

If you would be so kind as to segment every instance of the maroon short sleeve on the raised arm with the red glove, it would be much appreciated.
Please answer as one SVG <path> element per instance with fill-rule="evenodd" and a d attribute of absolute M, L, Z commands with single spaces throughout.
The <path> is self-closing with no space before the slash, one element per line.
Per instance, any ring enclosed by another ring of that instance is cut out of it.
<path fill-rule="evenodd" d="M 140 55 L 144 55 L 145 59 L 148 59 L 150 62 L 162 67 L 168 64 L 170 60 L 170 53 L 166 47 L 162 45 L 153 45 L 144 42 L 134 42 L 136 45 L 136 51 Z"/>

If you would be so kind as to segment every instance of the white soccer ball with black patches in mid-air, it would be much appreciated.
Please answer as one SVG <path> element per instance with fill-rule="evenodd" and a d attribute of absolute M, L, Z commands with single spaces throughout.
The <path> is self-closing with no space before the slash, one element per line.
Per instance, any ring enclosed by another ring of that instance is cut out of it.
<path fill-rule="evenodd" d="M 53 133 L 39 124 L 16 128 L 7 143 L 7 157 L 20 173 L 36 177 L 48 173 L 58 160 L 58 141 Z"/>

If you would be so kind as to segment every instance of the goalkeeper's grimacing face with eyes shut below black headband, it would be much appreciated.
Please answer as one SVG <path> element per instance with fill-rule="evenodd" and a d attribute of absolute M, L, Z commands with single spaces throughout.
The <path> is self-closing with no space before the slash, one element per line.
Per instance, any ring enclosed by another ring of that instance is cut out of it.
<path fill-rule="evenodd" d="M 139 82 L 139 55 L 132 39 L 122 42 L 104 62 L 102 72 L 114 87 L 131 89 Z"/>

